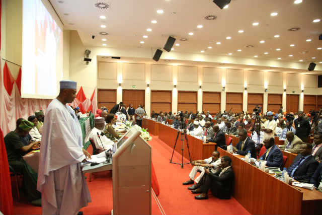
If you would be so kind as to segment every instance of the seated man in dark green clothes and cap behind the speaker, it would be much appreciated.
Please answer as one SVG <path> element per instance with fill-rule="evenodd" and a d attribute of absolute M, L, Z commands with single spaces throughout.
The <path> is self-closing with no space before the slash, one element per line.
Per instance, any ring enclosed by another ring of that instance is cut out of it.
<path fill-rule="evenodd" d="M 31 142 L 25 146 L 21 137 L 28 135 L 34 124 L 23 119 L 16 130 L 9 132 L 5 136 L 5 145 L 7 150 L 9 165 L 24 176 L 23 187 L 27 194 L 28 201 L 32 204 L 40 205 L 41 193 L 37 191 L 37 173 L 24 161 L 22 156 L 39 147 L 39 141 Z"/>

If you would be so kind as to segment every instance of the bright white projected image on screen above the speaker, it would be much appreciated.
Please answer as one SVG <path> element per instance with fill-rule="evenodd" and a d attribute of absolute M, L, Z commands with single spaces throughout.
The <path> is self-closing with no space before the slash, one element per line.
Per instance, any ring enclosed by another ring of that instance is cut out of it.
<path fill-rule="evenodd" d="M 62 76 L 62 31 L 41 0 L 23 1 L 22 95 L 57 95 Z"/>

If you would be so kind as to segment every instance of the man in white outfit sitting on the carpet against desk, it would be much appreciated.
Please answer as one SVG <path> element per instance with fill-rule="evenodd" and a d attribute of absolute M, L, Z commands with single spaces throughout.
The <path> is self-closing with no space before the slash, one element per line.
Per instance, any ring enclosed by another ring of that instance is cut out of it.
<path fill-rule="evenodd" d="M 220 156 L 219 152 L 214 151 L 210 158 L 207 158 L 204 160 L 193 161 L 191 163 L 193 168 L 189 174 L 190 179 L 189 179 L 189 181 L 183 182 L 182 184 L 183 185 L 194 184 L 194 181 L 196 183 L 199 183 L 200 179 L 202 179 L 202 177 L 205 173 L 204 167 L 212 168 L 212 171 L 215 173 L 219 169 L 219 166 L 220 166 L 219 156 Z M 198 170 L 200 171 L 200 175 L 195 179 Z M 194 190 L 197 188 L 198 188 L 198 186 L 196 186 L 196 185 L 188 187 L 189 190 Z"/>

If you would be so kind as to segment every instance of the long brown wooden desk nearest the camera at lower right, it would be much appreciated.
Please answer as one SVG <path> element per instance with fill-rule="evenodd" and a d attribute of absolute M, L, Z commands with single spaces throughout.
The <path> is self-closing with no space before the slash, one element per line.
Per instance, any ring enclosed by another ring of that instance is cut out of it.
<path fill-rule="evenodd" d="M 252 214 L 320 214 L 322 193 L 301 191 L 218 148 L 229 156 L 235 174 L 234 198 Z"/>

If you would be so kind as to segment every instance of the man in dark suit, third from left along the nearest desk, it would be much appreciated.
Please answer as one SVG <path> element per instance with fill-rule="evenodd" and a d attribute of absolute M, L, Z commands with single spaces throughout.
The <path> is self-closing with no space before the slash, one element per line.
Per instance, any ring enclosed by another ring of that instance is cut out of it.
<path fill-rule="evenodd" d="M 311 155 L 312 145 L 304 142 L 300 148 L 301 154 L 295 157 L 292 165 L 288 168 L 287 173 L 290 177 L 303 183 L 309 182 L 314 174 L 318 162 Z"/>

